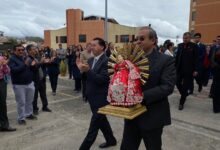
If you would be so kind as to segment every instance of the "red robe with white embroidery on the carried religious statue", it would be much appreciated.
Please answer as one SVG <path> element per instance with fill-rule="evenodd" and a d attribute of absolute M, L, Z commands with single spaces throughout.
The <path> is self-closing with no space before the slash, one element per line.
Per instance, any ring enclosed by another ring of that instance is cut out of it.
<path fill-rule="evenodd" d="M 125 60 L 114 67 L 115 73 L 108 89 L 108 101 L 111 105 L 133 106 L 141 103 L 140 71 L 130 61 Z"/>

